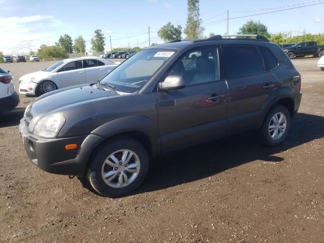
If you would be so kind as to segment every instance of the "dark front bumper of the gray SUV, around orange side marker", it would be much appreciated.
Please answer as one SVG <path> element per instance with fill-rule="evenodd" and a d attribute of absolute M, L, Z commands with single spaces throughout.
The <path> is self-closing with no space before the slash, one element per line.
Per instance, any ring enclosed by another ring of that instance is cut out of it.
<path fill-rule="evenodd" d="M 90 154 L 104 140 L 93 134 L 70 138 L 42 138 L 28 132 L 24 117 L 20 120 L 19 130 L 32 163 L 43 171 L 60 175 L 85 175 Z M 68 144 L 77 144 L 77 148 L 66 150 L 65 145 Z"/>

